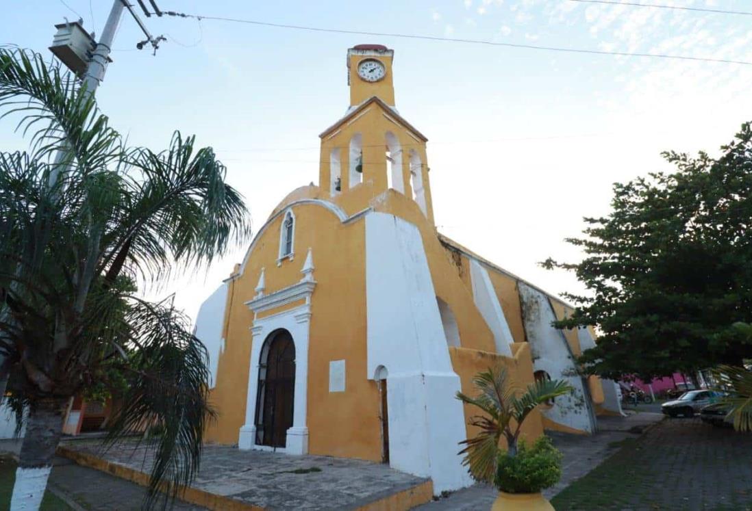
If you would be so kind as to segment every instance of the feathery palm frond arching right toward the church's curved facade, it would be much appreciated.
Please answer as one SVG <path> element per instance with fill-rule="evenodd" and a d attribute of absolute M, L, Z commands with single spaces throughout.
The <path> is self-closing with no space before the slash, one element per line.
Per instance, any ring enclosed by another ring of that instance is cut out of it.
<path fill-rule="evenodd" d="M 140 176 L 125 182 L 123 228 L 108 233 L 102 266 L 121 255 L 150 280 L 171 262 L 208 264 L 249 239 L 250 216 L 242 196 L 224 182 L 226 168 L 211 148 L 195 151 L 194 144 L 194 137 L 175 132 L 162 153 L 129 153 L 126 165 Z"/>

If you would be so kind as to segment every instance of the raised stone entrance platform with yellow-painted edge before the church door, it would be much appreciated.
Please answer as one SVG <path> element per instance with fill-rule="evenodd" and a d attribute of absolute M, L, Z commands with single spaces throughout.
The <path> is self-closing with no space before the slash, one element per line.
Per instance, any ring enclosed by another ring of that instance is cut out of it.
<path fill-rule="evenodd" d="M 153 460 L 143 444 L 121 443 L 102 451 L 95 441 L 60 446 L 77 464 L 147 485 Z M 205 446 L 201 470 L 182 500 L 208 509 L 357 509 L 397 511 L 431 500 L 430 479 L 376 464 L 328 456 L 293 456 Z"/>

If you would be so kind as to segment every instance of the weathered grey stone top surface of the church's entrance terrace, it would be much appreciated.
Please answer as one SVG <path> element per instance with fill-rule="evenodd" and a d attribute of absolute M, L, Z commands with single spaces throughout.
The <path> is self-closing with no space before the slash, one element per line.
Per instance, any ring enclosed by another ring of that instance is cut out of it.
<path fill-rule="evenodd" d="M 144 446 L 100 452 L 98 445 L 84 441 L 68 447 L 149 472 L 151 457 Z M 355 509 L 425 481 L 368 461 L 206 446 L 193 487 L 268 509 Z"/>

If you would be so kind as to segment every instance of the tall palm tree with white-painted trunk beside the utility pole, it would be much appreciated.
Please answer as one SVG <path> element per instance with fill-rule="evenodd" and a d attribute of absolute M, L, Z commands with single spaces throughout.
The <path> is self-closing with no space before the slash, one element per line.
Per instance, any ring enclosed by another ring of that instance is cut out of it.
<path fill-rule="evenodd" d="M 167 506 L 198 470 L 213 416 L 208 354 L 171 300 L 145 301 L 135 283 L 244 243 L 247 209 L 211 148 L 175 132 L 161 153 L 129 149 L 38 54 L 0 48 L 0 113 L 29 138 L 27 152 L 0 153 L 0 381 L 17 417 L 28 410 L 11 507 L 38 507 L 63 407 L 102 386 L 122 390 L 108 443 L 163 431 L 145 504 Z"/>

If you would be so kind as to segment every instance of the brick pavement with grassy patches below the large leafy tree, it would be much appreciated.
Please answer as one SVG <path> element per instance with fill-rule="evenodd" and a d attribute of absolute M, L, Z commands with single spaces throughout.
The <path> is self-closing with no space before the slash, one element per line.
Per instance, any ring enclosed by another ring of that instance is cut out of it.
<path fill-rule="evenodd" d="M 557 511 L 752 509 L 752 434 L 667 419 L 562 491 Z"/>

